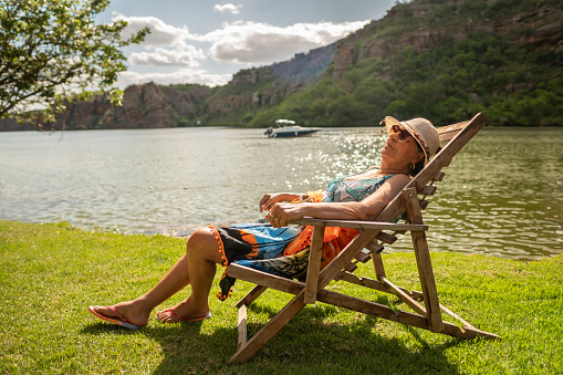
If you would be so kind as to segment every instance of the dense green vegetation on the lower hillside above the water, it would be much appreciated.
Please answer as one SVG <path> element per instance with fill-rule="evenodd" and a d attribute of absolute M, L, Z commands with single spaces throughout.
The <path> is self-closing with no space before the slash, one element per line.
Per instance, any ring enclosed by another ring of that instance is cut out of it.
<path fill-rule="evenodd" d="M 457 45 L 363 60 L 340 82 L 325 77 L 259 113 L 252 125 L 289 117 L 314 126 L 361 126 L 385 115 L 448 124 L 477 112 L 497 125 L 563 125 L 562 62 L 549 49 L 475 33 Z"/>

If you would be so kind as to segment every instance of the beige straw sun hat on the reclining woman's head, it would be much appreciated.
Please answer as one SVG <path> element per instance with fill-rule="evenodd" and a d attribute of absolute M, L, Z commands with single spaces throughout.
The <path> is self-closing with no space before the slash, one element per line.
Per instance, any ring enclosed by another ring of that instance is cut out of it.
<path fill-rule="evenodd" d="M 393 125 L 399 125 L 407 129 L 408 133 L 418 142 L 420 148 L 425 153 L 425 165 L 436 154 L 440 147 L 440 135 L 432 123 L 426 118 L 417 117 L 409 121 L 398 121 L 395 117 L 386 116 L 385 126 L 387 133 Z"/>

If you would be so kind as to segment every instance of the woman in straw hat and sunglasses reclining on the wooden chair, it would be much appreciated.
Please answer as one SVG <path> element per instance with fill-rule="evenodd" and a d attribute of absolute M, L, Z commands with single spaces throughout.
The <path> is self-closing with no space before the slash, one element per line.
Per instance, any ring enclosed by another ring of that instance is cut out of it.
<path fill-rule="evenodd" d="M 382 165 L 363 174 L 337 178 L 325 190 L 305 195 L 267 194 L 260 211 L 268 211 L 270 225 L 198 229 L 188 239 L 186 253 L 166 275 L 139 298 L 112 306 L 90 306 L 95 316 L 128 329 L 146 325 L 150 312 L 160 303 L 191 285 L 191 295 L 177 305 L 157 312 L 163 323 L 199 321 L 210 316 L 209 293 L 216 264 L 231 262 L 274 274 L 300 278 L 306 269 L 311 228 L 285 227 L 292 219 L 366 220 L 380 210 L 408 184 L 439 149 L 439 135 L 425 118 L 399 122 L 385 117 L 388 139 L 382 150 Z M 382 122 L 383 123 L 383 122 Z M 325 233 L 321 267 L 326 265 L 355 236 L 355 231 L 331 228 Z M 234 282 L 221 279 L 225 300 Z"/>

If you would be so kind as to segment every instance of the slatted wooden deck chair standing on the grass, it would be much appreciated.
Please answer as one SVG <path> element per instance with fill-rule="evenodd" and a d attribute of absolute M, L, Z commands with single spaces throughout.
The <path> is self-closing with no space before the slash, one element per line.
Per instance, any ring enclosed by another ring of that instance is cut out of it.
<path fill-rule="evenodd" d="M 239 309 L 238 348 L 237 353 L 229 360 L 229 363 L 247 362 L 250 360 L 306 304 L 314 304 L 315 301 L 451 336 L 499 338 L 496 334 L 476 329 L 439 303 L 426 240 L 426 230 L 428 230 L 428 226 L 423 222 L 421 216 L 421 209 L 425 209 L 428 205 L 425 198 L 435 194 L 436 186 L 434 186 L 434 184 L 440 181 L 445 176 L 441 169 L 449 165 L 451 158 L 486 124 L 487 117 L 479 113 L 471 121 L 438 128 L 440 142 L 442 145 L 446 143 L 446 145 L 444 145 L 442 149 L 410 180 L 403 191 L 387 205 L 374 221 L 322 220 L 312 218 L 293 220 L 291 223 L 314 226 L 305 282 L 280 278 L 232 263 L 228 271 L 230 277 L 246 280 L 257 285 L 236 305 Z M 421 198 L 419 198 L 420 196 Z M 393 221 L 400 217 L 405 210 L 407 212 L 407 222 L 394 223 Z M 361 231 L 352 242 L 321 271 L 321 251 L 323 248 L 325 227 L 346 227 Z M 405 233 L 407 231 L 410 232 L 413 248 L 416 254 L 415 258 L 421 285 L 420 292 L 408 291 L 390 282 L 385 274 L 380 256 L 383 250 L 382 243 L 393 243 L 396 240 L 397 233 Z M 353 273 L 355 268 L 357 268 L 354 262 L 365 262 L 369 259 L 373 260 L 377 280 L 356 277 Z M 380 292 L 395 294 L 413 309 L 414 313 L 400 310 L 396 312 L 384 304 L 326 290 L 325 287 L 332 280 L 347 281 Z M 268 288 L 291 293 L 295 296 L 259 332 L 248 340 L 247 306 Z M 444 321 L 441 312 L 458 320 L 463 326 L 459 327 L 456 324 Z"/>

